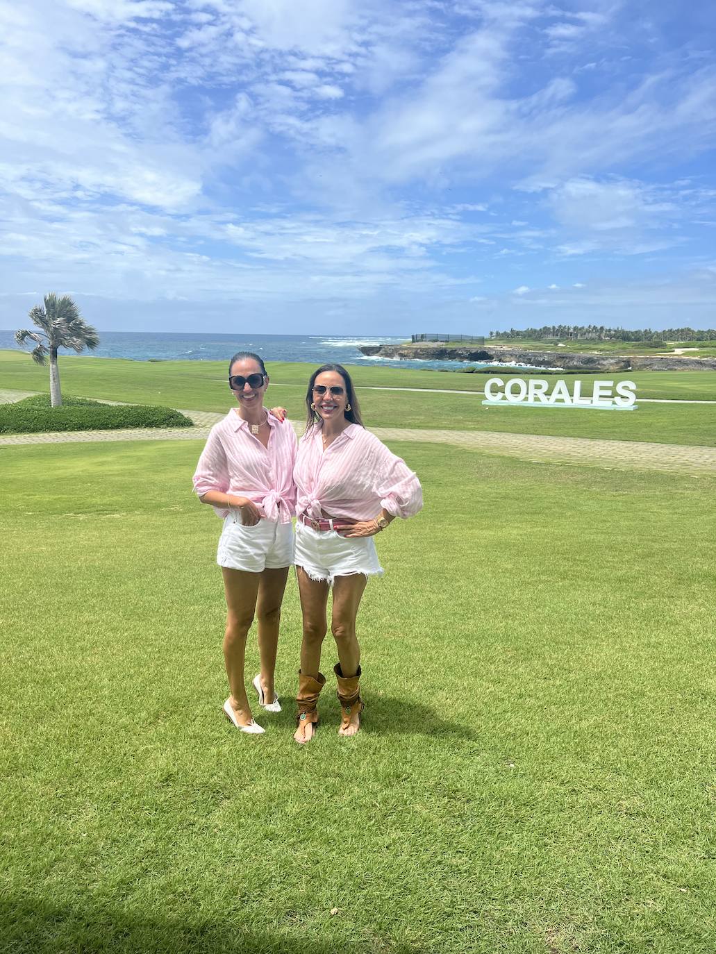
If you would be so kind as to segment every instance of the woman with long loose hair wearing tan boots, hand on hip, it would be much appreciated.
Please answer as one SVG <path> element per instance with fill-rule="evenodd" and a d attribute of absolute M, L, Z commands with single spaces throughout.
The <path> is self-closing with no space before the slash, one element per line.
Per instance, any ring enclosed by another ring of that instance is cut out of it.
<path fill-rule="evenodd" d="M 338 651 L 333 672 L 342 710 L 338 733 L 354 736 L 363 711 L 356 616 L 369 576 L 383 574 L 373 537 L 395 517 L 411 517 L 423 504 L 415 474 L 363 425 L 345 367 L 324 364 L 314 371 L 305 404 L 305 434 L 294 468 L 295 563 L 304 638 L 293 737 L 301 744 L 313 737 L 318 697 L 326 684 L 319 670 L 328 590 L 333 587 L 330 630 Z"/>

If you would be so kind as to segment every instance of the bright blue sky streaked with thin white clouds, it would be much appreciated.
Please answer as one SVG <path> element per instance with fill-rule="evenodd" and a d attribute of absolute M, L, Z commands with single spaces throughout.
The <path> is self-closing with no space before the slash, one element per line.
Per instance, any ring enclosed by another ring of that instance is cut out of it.
<path fill-rule="evenodd" d="M 716 324 L 716 7 L 0 0 L 0 326 Z"/>

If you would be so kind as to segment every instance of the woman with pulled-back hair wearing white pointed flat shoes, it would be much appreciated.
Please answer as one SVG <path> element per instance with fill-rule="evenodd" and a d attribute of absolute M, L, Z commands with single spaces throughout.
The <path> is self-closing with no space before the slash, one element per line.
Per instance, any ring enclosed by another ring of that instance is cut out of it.
<path fill-rule="evenodd" d="M 296 501 L 296 435 L 283 408 L 263 407 L 268 375 L 259 355 L 240 351 L 229 363 L 229 387 L 239 403 L 214 425 L 194 474 L 203 504 L 223 519 L 217 563 L 226 596 L 223 656 L 231 695 L 227 718 L 259 734 L 243 684 L 246 636 L 259 621 L 261 672 L 253 685 L 266 712 L 281 712 L 274 689 L 281 603 L 293 563 L 291 516 Z"/>

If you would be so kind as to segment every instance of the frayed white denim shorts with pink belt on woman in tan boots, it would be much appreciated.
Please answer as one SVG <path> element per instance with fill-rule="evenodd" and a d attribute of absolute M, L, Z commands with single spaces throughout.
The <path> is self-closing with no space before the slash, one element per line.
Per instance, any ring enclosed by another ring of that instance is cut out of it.
<path fill-rule="evenodd" d="M 337 530 L 314 530 L 296 521 L 294 563 L 312 580 L 332 583 L 336 576 L 382 576 L 372 537 L 342 537 Z"/>

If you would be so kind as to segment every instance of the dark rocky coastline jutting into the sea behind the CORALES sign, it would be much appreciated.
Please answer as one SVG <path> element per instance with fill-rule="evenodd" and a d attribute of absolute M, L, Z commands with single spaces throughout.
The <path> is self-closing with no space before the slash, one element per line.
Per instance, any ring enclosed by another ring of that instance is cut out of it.
<path fill-rule="evenodd" d="M 565 371 L 716 371 L 716 358 L 682 358 L 679 355 L 657 358 L 651 355 L 576 354 L 527 351 L 524 348 L 490 344 L 473 348 L 446 348 L 439 344 L 363 344 L 360 350 L 369 357 L 516 363 L 558 367 Z"/>

